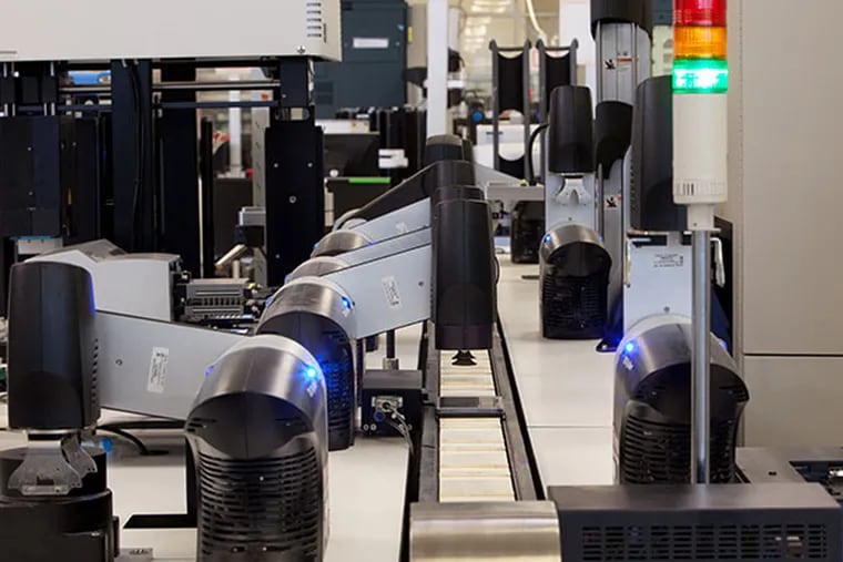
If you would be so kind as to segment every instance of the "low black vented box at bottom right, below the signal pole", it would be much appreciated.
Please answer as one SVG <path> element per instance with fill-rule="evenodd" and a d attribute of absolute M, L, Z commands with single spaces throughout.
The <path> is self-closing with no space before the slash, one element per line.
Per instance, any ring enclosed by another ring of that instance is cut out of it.
<path fill-rule="evenodd" d="M 843 515 L 817 484 L 560 487 L 562 560 L 831 562 Z"/>

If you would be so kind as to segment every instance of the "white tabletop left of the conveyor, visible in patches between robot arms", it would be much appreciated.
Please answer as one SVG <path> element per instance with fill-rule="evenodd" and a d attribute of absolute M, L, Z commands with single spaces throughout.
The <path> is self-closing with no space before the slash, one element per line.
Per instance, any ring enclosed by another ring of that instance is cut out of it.
<path fill-rule="evenodd" d="M 420 327 L 398 333 L 402 366 L 415 368 Z M 382 346 L 383 351 L 383 346 Z M 367 358 L 379 368 L 383 352 Z M 7 426 L 0 405 L 0 427 Z M 102 421 L 125 419 L 104 412 Z M 109 488 L 114 512 L 125 523 L 132 514 L 184 513 L 182 437 L 177 432 L 138 431 L 151 449 L 166 448 L 163 457 L 139 457 L 120 439 L 109 462 Z M 104 436 L 104 433 L 103 433 Z M 21 433 L 0 431 L 0 449 L 26 443 Z M 347 451 L 328 460 L 329 539 L 326 562 L 395 562 L 399 558 L 408 450 L 403 439 L 358 438 Z M 156 562 L 195 560 L 195 530 L 123 530 L 124 549 L 152 548 Z M 2 555 L 0 555 L 2 559 Z"/>

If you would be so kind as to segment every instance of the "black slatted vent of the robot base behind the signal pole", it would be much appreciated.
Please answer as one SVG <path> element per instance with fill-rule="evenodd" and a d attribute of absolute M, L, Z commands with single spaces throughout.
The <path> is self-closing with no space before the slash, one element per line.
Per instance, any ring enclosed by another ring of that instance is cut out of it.
<path fill-rule="evenodd" d="M 734 480 L 735 425 L 711 422 L 711 481 Z M 620 478 L 624 483 L 688 483 L 691 481 L 691 428 L 628 416 L 620 443 Z"/>

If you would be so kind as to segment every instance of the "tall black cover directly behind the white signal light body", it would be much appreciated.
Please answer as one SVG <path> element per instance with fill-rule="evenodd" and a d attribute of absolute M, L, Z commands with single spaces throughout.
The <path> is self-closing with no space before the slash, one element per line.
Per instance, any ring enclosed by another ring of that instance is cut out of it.
<path fill-rule="evenodd" d="M 684 231 L 685 207 L 673 203 L 673 90 L 670 76 L 638 86 L 632 117 L 631 226 Z"/>

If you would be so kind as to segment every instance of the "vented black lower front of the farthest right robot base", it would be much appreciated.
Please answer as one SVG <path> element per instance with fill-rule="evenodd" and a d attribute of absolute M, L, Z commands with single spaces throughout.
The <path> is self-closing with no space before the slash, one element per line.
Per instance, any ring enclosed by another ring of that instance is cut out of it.
<path fill-rule="evenodd" d="M 561 275 L 546 266 L 541 288 L 541 321 L 547 337 L 602 337 L 607 323 L 608 272 L 586 277 Z"/>

